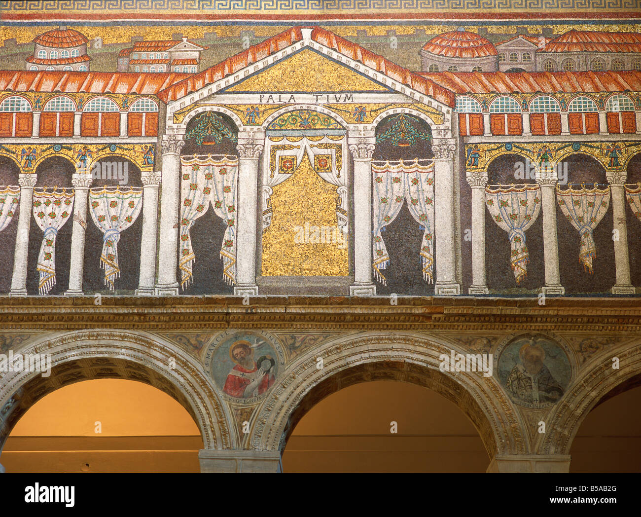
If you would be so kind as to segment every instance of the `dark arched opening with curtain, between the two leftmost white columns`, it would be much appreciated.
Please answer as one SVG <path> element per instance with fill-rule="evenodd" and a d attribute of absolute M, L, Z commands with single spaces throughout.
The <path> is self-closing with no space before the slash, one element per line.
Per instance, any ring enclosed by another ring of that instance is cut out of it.
<path fill-rule="evenodd" d="M 58 156 L 46 158 L 36 169 L 33 203 L 37 210 L 30 218 L 27 260 L 29 295 L 60 296 L 69 287 L 75 173 L 74 164 Z"/>

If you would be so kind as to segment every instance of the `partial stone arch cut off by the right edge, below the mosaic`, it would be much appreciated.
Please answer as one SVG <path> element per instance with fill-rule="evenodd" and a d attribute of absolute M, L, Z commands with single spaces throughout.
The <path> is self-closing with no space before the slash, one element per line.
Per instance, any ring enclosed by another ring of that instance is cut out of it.
<path fill-rule="evenodd" d="M 616 356 L 620 361 L 619 369 L 612 368 L 613 353 L 608 351 L 595 355 L 583 365 L 581 375 L 554 408 L 547 432 L 538 438 L 539 454 L 569 454 L 572 441 L 588 413 L 617 388 L 625 391 L 638 385 L 638 382 L 630 383 L 641 375 L 641 341 L 626 350 L 618 350 Z"/>

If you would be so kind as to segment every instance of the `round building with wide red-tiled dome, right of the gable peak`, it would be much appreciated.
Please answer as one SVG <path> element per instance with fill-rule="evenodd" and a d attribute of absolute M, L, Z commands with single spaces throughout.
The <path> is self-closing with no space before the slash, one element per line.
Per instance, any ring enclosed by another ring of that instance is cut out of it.
<path fill-rule="evenodd" d="M 424 72 L 495 72 L 499 53 L 487 38 L 459 27 L 439 34 L 420 49 Z"/>

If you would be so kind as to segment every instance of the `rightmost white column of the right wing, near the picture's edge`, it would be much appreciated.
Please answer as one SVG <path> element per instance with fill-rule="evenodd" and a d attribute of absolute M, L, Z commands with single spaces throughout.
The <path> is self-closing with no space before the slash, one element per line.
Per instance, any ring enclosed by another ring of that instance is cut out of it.
<path fill-rule="evenodd" d="M 621 171 L 606 171 L 612 195 L 612 217 L 614 229 L 618 230 L 618 239 L 614 242 L 614 263 L 617 271 L 617 283 L 612 287 L 612 294 L 635 294 L 630 281 L 630 257 L 628 253 L 628 226 L 626 225 L 626 191 L 627 175 Z"/>

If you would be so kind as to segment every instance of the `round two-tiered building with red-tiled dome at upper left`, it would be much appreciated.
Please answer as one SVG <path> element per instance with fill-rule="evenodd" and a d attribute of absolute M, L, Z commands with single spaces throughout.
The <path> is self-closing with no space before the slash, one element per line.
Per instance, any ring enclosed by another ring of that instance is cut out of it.
<path fill-rule="evenodd" d="M 88 72 L 87 37 L 61 26 L 34 38 L 33 56 L 27 58 L 29 71 Z"/>

